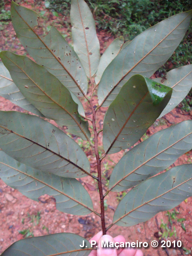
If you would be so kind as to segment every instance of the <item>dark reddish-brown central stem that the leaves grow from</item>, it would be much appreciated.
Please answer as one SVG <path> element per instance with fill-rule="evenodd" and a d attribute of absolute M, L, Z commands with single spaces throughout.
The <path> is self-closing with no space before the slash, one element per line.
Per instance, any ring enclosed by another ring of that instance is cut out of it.
<path fill-rule="evenodd" d="M 98 171 L 98 188 L 99 188 L 99 195 L 100 195 L 100 208 L 101 208 L 101 225 L 102 225 L 102 231 L 103 235 L 106 235 L 106 226 L 105 226 L 105 208 L 104 208 L 104 196 L 103 196 L 103 188 L 102 188 L 102 182 L 101 182 L 101 160 L 99 157 L 98 152 L 98 133 L 96 130 L 96 112 L 94 110 L 92 100 L 90 101 L 91 110 L 93 113 L 93 131 L 94 131 L 94 151 L 96 155 L 96 161 L 97 161 L 97 171 Z"/>

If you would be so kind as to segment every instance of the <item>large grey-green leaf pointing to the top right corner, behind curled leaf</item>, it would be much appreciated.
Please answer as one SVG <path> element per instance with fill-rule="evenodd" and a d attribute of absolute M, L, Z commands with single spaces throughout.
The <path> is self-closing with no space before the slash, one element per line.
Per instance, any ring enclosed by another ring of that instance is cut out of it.
<path fill-rule="evenodd" d="M 99 104 L 109 106 L 134 74 L 152 76 L 173 54 L 188 29 L 191 16 L 192 11 L 176 14 L 134 38 L 104 71 L 98 87 Z"/>

